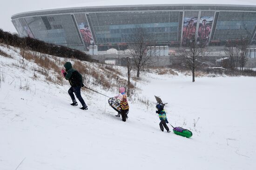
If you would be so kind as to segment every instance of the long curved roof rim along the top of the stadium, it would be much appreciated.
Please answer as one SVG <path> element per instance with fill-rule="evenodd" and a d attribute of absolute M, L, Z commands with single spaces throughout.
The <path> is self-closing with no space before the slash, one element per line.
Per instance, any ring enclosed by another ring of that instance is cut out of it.
<path fill-rule="evenodd" d="M 108 3 L 99 3 L 99 2 L 106 2 L 108 1 Z M 133 2 L 134 0 L 131 0 L 131 2 Z M 143 1 L 143 0 L 142 0 Z M 187 0 L 182 0 L 182 1 L 187 1 Z M 207 0 L 203 0 L 204 2 L 206 2 Z M 218 1 L 218 0 L 216 0 Z M 230 0 L 223 0 L 224 2 L 228 2 Z M 232 0 L 233 1 L 233 0 Z M 114 3 L 116 2 L 116 3 Z M 198 9 L 201 9 L 203 6 L 205 7 L 205 10 L 209 10 L 208 6 L 214 6 L 216 7 L 216 10 L 238 10 L 238 11 L 256 11 L 256 2 L 247 2 L 247 5 L 233 5 L 235 1 L 233 1 L 232 5 L 231 4 L 178 4 L 178 3 L 166 3 L 166 4 L 150 4 L 153 3 L 152 1 L 148 0 L 148 4 L 143 4 L 140 5 L 142 2 L 139 1 L 137 2 L 138 5 L 124 5 L 124 4 L 131 4 L 131 2 L 120 2 L 118 0 L 98 0 L 96 2 L 90 2 L 90 3 L 86 3 L 86 4 L 74 4 L 74 5 L 69 5 L 69 6 L 59 6 L 59 8 L 52 8 L 52 9 L 46 9 L 46 10 L 38 10 L 38 11 L 30 11 L 30 12 L 24 12 L 24 13 L 17 13 L 14 14 L 11 18 L 15 19 L 15 18 L 19 18 L 19 17 L 26 17 L 26 15 L 28 14 L 30 15 L 36 15 L 38 13 L 41 14 L 54 14 L 54 13 L 58 13 L 58 11 L 66 11 L 67 13 L 70 12 L 85 12 L 85 11 L 80 11 L 79 9 L 87 9 L 87 12 L 96 12 L 97 10 L 100 11 L 112 11 L 114 12 L 115 10 L 112 10 L 111 8 L 119 8 L 118 10 L 121 10 L 121 8 L 123 9 L 127 9 L 129 8 L 129 10 L 131 11 L 136 11 L 136 10 L 145 10 L 146 8 L 149 10 L 154 10 L 155 6 L 160 7 L 161 10 L 182 10 L 183 8 L 180 8 L 179 6 L 186 6 L 186 8 L 184 8 L 184 10 L 197 10 L 196 6 L 198 6 Z M 157 2 L 167 2 L 167 0 L 158 0 Z M 197 1 L 198 2 L 198 1 Z M 200 0 L 199 0 L 200 2 Z M 240 1 L 237 1 L 240 2 Z M 104 5 L 106 4 L 106 5 Z M 115 4 L 115 5 L 112 5 Z M 121 5 L 122 4 L 122 5 Z M 135 3 L 134 3 L 135 4 Z M 242 2 L 241 2 L 242 4 Z M 248 5 L 248 4 L 254 4 L 254 5 Z M 95 6 L 94 6 L 95 5 Z M 101 6 L 100 6 L 101 5 Z M 72 6 L 72 7 L 71 7 Z M 176 7 L 175 7 L 176 6 Z M 191 7 L 192 6 L 192 7 Z M 221 6 L 221 7 L 220 7 Z M 138 7 L 138 9 L 136 9 Z M 105 9 L 104 9 L 105 8 Z M 90 10 L 88 10 L 90 9 Z M 203 10 L 203 9 L 201 9 Z M 211 9 L 213 10 L 213 8 Z"/>

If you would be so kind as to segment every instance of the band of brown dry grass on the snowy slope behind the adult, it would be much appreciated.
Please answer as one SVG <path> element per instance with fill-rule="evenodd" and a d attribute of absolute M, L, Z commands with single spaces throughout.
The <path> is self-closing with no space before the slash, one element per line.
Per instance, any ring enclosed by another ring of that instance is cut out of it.
<path fill-rule="evenodd" d="M 31 51 L 24 51 L 24 53 L 22 51 L 20 55 L 23 57 L 23 63 L 24 59 L 34 61 L 34 63 L 39 66 L 39 68 L 34 68 L 34 71 L 44 75 L 47 81 L 60 85 L 66 82 L 65 78 L 60 74 L 61 67 L 63 67 L 66 61 L 61 60 L 59 57 L 52 57 Z M 127 86 L 127 80 L 122 80 L 121 78 L 123 76 L 121 71 L 114 67 L 104 64 L 87 63 L 74 58 L 71 59 L 71 61 L 74 62 L 74 64 L 72 64 L 73 68 L 81 73 L 84 84 L 88 87 L 93 85 L 109 90 Z M 13 65 L 20 67 L 21 63 L 13 63 Z M 36 73 L 34 73 L 32 78 L 38 78 Z M 130 89 L 134 88 L 135 85 L 131 83 Z"/>

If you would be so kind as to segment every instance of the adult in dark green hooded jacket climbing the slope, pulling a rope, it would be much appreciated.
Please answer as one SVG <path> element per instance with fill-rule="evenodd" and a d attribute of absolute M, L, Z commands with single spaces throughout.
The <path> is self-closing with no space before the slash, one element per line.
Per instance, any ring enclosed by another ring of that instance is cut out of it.
<path fill-rule="evenodd" d="M 81 109 L 87 110 L 88 107 L 85 104 L 82 96 L 81 96 L 81 87 L 83 87 L 83 79 L 82 75 L 75 69 L 72 68 L 72 64 L 70 62 L 67 62 L 64 64 L 64 67 L 66 71 L 61 69 L 62 75 L 69 81 L 71 88 L 68 89 L 68 94 L 70 95 L 73 103 L 71 103 L 72 106 L 77 106 L 77 102 L 75 100 L 74 94 L 77 97 L 77 99 L 81 102 Z"/>

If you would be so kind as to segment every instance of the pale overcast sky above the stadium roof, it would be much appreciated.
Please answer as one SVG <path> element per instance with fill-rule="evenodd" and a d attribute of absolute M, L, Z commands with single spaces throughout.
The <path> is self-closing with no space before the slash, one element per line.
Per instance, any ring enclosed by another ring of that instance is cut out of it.
<path fill-rule="evenodd" d="M 93 2 L 92 2 L 93 1 Z M 35 10 L 78 7 L 78 6 L 115 6 L 149 4 L 232 4 L 256 5 L 256 0 L 1 0 L 0 28 L 16 32 L 11 16 Z"/>

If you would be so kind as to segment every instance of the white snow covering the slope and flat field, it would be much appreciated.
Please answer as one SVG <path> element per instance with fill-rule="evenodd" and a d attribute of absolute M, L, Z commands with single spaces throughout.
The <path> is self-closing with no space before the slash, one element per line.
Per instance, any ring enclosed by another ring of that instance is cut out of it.
<path fill-rule="evenodd" d="M 122 122 L 108 98 L 83 91 L 89 110 L 72 107 L 68 85 L 33 81 L 17 59 L 0 56 L 0 170 L 256 169 L 255 77 L 143 74 Z M 154 95 L 191 139 L 160 131 Z"/>

